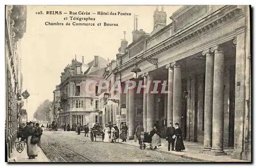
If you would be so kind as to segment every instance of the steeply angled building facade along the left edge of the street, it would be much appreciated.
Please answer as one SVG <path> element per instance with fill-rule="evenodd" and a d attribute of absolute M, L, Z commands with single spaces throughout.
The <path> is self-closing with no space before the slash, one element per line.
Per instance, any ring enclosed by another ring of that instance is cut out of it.
<path fill-rule="evenodd" d="M 6 122 L 5 140 L 8 158 L 15 147 L 17 128 L 22 121 L 22 73 L 20 39 L 26 32 L 26 6 L 6 6 L 5 62 L 6 62 Z"/>

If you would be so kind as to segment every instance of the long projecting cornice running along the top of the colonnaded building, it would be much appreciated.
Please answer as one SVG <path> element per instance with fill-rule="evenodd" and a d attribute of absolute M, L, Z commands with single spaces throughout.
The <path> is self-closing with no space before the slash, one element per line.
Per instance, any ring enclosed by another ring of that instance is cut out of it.
<path fill-rule="evenodd" d="M 227 11 L 225 11 L 225 9 Z M 211 29 L 214 29 L 216 26 L 219 26 L 220 24 L 224 24 L 225 22 L 228 22 L 229 20 L 232 20 L 235 16 L 238 16 L 241 14 L 241 9 L 236 8 L 236 6 L 227 6 L 223 11 L 217 13 L 217 14 L 210 14 L 200 20 L 199 22 L 195 23 L 197 26 L 194 24 L 189 26 L 187 29 L 185 29 L 182 32 L 176 33 L 174 36 L 166 39 L 165 41 L 157 44 L 151 49 L 146 50 L 145 52 L 141 53 L 137 57 L 142 57 L 145 54 L 148 54 L 146 58 L 152 58 L 155 57 L 156 55 L 166 52 L 167 50 L 170 50 L 172 48 L 178 47 L 180 44 L 183 44 L 186 41 L 189 41 L 190 39 L 194 39 L 198 36 L 200 36 L 203 33 L 210 32 Z M 243 14 L 243 13 L 242 13 Z M 198 29 L 198 26 L 200 24 L 203 24 L 203 22 L 209 20 L 209 18 L 212 18 L 212 21 Z M 191 31 L 193 30 L 193 31 Z M 188 33 L 191 31 L 191 33 Z M 162 48 L 161 45 L 164 45 Z M 156 51 L 154 51 L 156 50 Z M 129 62 L 125 62 L 122 66 L 118 68 L 119 72 L 126 71 L 130 68 L 132 68 L 134 64 L 134 59 L 131 59 Z M 138 60 L 137 63 L 140 64 L 143 62 L 143 60 Z M 113 71 L 116 73 L 116 70 Z"/>

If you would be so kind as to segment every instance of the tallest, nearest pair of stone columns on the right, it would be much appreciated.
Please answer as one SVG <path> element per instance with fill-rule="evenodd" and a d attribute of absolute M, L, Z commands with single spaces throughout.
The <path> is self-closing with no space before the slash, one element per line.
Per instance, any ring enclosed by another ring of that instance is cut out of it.
<path fill-rule="evenodd" d="M 214 155 L 224 155 L 224 51 L 220 45 L 206 49 L 204 148 Z"/>

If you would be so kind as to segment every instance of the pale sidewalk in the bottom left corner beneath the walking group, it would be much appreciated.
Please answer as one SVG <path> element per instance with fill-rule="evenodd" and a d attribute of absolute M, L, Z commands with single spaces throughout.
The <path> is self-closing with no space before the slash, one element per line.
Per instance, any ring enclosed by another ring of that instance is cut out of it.
<path fill-rule="evenodd" d="M 50 162 L 50 160 L 46 157 L 45 153 L 42 152 L 41 148 L 37 148 L 37 157 L 35 157 L 35 159 L 29 159 L 27 155 L 27 145 L 25 145 L 22 153 L 18 153 L 16 148 L 14 147 L 11 158 L 8 159 L 8 162 Z"/>

